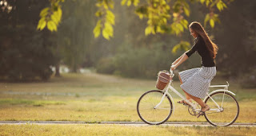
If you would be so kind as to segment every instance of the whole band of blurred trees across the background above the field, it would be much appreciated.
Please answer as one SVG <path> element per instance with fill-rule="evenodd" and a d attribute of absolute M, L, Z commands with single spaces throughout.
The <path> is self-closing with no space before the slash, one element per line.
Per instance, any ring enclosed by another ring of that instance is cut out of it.
<path fill-rule="evenodd" d="M 158 71 L 170 68 L 173 60 L 187 49 L 184 47 L 190 48 L 187 45 L 194 44 L 189 30 L 185 28 L 178 37 L 167 33 L 146 36 L 148 18 L 140 19 L 138 14 L 134 14 L 138 7 L 120 6 L 121 1 L 118 0 L 113 1 L 116 4 L 111 10 L 114 25 L 110 40 L 102 35 L 94 38 L 98 22 L 95 16 L 98 6 L 95 5 L 98 1 L 66 0 L 59 3 L 62 21 L 57 32 L 37 30 L 38 21 L 42 18 L 39 17 L 40 12 L 50 7 L 48 0 L 5 2 L 12 6 L 12 10 L 0 10 L 2 80 L 48 79 L 52 76 L 51 68 L 58 69 L 59 64 L 66 64 L 70 72 L 78 72 L 79 68 L 95 68 L 101 73 L 155 79 Z M 204 24 L 209 13 L 206 5 L 188 4 L 188 24 L 191 21 Z M 255 6 L 256 2 L 250 0 L 234 1 L 218 15 L 220 24 L 215 23 L 211 29 L 209 20 L 205 26 L 219 47 L 216 58 L 218 75 L 240 80 L 246 87 L 256 84 Z M 183 48 L 172 52 L 175 45 Z M 178 69 L 200 67 L 199 58 L 198 55 L 191 56 Z"/>

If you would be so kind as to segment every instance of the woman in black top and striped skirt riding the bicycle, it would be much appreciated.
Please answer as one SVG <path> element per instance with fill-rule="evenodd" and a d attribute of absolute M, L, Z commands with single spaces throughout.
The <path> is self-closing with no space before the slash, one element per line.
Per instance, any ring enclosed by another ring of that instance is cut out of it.
<path fill-rule="evenodd" d="M 200 115 L 204 115 L 205 111 L 210 110 L 210 107 L 202 101 L 202 98 L 205 98 L 210 81 L 216 75 L 214 58 L 216 57 L 218 46 L 210 40 L 210 37 L 199 22 L 192 22 L 189 28 L 190 34 L 194 37 L 194 45 L 189 51 L 178 57 L 178 59 L 172 63 L 170 68 L 171 70 L 174 70 L 196 51 L 201 56 L 201 68 L 192 68 L 178 72 L 181 87 L 185 92 L 186 99 L 189 99 L 190 101 L 191 99 L 194 99 L 194 101 L 202 107 L 198 114 L 199 117 Z M 186 101 L 181 100 L 178 101 L 178 103 L 186 103 Z"/>

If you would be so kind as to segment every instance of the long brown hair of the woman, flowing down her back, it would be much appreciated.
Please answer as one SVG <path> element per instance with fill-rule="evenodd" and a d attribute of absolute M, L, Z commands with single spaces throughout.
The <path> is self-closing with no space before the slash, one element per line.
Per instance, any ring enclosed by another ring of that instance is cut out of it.
<path fill-rule="evenodd" d="M 193 21 L 189 27 L 190 29 L 193 29 L 194 32 L 198 34 L 198 36 L 202 37 L 203 41 L 206 43 L 207 49 L 210 52 L 210 56 L 215 58 L 218 51 L 218 46 L 210 40 L 210 37 L 206 33 L 205 29 L 203 29 L 202 25 L 198 21 Z"/>

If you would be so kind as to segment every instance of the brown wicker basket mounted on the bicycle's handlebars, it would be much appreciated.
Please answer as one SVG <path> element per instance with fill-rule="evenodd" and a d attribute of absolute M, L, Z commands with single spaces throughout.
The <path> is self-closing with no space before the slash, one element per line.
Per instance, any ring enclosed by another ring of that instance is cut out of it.
<path fill-rule="evenodd" d="M 170 82 L 170 72 L 163 70 L 158 72 L 158 80 L 155 87 L 159 90 L 162 90 L 166 87 L 166 85 Z"/>

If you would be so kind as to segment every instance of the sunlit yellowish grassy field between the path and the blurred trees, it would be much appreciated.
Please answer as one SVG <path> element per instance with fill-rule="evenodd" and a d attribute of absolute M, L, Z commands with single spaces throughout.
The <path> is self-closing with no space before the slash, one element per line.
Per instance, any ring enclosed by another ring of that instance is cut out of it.
<path fill-rule="evenodd" d="M 96 73 L 62 76 L 46 83 L 1 83 L 0 120 L 141 121 L 136 111 L 138 98 L 145 91 L 155 89 L 154 80 Z M 212 84 L 226 84 L 226 81 L 215 78 Z M 174 82 L 174 87 L 181 91 L 178 81 Z M 242 89 L 238 84 L 230 83 L 229 90 L 237 94 L 235 97 L 240 104 L 237 122 L 256 122 L 255 89 Z M 173 95 L 174 101 L 178 101 L 177 95 Z M 206 122 L 203 117 L 191 116 L 187 107 L 174 104 L 170 122 Z M 18 126 L 20 129 L 28 127 Z"/>

